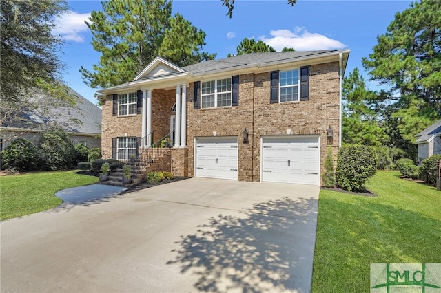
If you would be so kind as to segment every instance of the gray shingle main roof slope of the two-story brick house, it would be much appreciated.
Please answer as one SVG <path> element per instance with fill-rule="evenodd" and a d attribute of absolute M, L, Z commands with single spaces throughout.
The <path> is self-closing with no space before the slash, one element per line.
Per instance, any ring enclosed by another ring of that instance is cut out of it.
<path fill-rule="evenodd" d="M 275 61 L 283 61 L 292 58 L 300 58 L 305 56 L 314 56 L 317 54 L 336 52 L 337 50 L 325 50 L 325 51 L 306 51 L 306 52 L 263 52 L 263 53 L 250 53 L 245 55 L 238 55 L 233 57 L 227 57 L 218 60 L 208 60 L 194 65 L 183 67 L 187 72 L 193 74 L 199 74 L 203 72 L 211 72 L 219 69 L 234 68 L 236 66 L 243 65 L 258 65 L 262 63 L 270 63 Z"/>

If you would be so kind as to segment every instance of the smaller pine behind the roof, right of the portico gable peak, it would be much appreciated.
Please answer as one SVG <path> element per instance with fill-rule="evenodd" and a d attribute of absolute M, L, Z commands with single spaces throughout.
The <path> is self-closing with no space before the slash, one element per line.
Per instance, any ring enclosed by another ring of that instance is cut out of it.
<path fill-rule="evenodd" d="M 170 28 L 165 30 L 159 56 L 181 67 L 212 60 L 216 58 L 216 54 L 201 52 L 206 45 L 205 35 L 203 30 L 198 30 L 181 14 L 176 14 L 170 19 Z"/>

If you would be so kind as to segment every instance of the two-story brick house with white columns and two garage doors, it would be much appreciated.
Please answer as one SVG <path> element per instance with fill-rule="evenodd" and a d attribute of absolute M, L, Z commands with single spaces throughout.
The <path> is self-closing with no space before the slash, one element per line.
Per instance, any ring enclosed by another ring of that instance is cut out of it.
<path fill-rule="evenodd" d="M 320 185 L 327 146 L 335 161 L 341 144 L 349 52 L 253 53 L 182 68 L 157 57 L 133 81 L 99 90 L 103 158 L 127 160 L 170 133 L 174 175 Z"/>

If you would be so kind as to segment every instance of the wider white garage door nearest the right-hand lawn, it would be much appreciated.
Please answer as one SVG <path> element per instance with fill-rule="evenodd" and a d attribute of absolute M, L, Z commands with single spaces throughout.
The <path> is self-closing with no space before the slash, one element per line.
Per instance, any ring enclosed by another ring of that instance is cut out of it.
<path fill-rule="evenodd" d="M 262 138 L 262 181 L 320 184 L 318 136 Z"/>

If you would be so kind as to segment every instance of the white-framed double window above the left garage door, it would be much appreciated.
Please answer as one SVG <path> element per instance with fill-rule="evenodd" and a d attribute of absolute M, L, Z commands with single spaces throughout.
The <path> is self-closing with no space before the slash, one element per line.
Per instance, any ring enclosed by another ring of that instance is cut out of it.
<path fill-rule="evenodd" d="M 232 78 L 205 81 L 201 85 L 202 108 L 232 105 Z"/>

